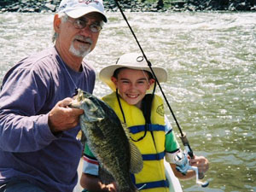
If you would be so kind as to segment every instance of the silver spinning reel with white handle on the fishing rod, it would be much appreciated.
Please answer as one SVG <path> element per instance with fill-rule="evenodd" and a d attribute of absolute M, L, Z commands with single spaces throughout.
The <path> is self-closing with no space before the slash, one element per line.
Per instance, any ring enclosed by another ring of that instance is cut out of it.
<path fill-rule="evenodd" d="M 186 175 L 186 173 L 189 170 L 195 171 L 196 183 L 199 184 L 201 187 L 206 188 L 209 182 L 208 181 L 202 182 L 200 179 L 204 177 L 203 173 L 200 173 L 198 171 L 198 167 L 189 165 L 189 159 L 188 159 L 189 147 L 188 146 L 184 146 L 184 147 L 185 147 L 184 152 L 180 152 L 176 154 L 174 157 L 177 171 L 181 172 L 183 175 Z"/>

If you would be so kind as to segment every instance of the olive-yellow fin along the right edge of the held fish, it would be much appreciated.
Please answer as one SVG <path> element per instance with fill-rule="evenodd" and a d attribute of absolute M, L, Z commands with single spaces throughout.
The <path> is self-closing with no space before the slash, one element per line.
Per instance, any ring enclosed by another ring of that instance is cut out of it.
<path fill-rule="evenodd" d="M 138 173 L 141 172 L 143 169 L 143 156 L 140 152 L 140 150 L 137 148 L 137 146 L 132 143 L 130 138 L 130 132 L 127 129 L 127 125 L 125 123 L 122 123 L 122 126 L 124 128 L 126 137 L 130 143 L 130 154 L 131 154 L 131 167 L 130 172 L 131 173 Z"/>

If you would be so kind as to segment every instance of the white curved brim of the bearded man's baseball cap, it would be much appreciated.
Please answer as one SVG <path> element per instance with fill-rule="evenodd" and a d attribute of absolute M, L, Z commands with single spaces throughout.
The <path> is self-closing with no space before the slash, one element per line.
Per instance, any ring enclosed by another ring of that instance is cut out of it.
<path fill-rule="evenodd" d="M 89 14 L 89 13 L 92 13 L 92 12 L 96 12 L 96 13 L 99 13 L 102 15 L 102 19 L 105 23 L 108 22 L 108 19 L 106 17 L 106 15 L 104 15 L 101 11 L 99 11 L 98 9 L 95 9 L 93 7 L 84 7 L 84 8 L 80 8 L 80 9 L 73 9 L 73 10 L 68 10 L 68 11 L 65 11 L 65 13 L 72 17 L 73 19 L 77 19 L 83 15 L 86 15 L 86 14 Z"/>

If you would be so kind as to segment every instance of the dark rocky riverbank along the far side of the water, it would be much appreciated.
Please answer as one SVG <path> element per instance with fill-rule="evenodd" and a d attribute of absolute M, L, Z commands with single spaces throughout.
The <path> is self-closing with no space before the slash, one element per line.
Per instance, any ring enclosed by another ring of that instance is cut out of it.
<path fill-rule="evenodd" d="M 0 2 L 0 13 L 3 12 L 55 12 L 61 0 L 20 0 Z M 131 12 L 166 12 L 166 11 L 204 11 L 204 10 L 224 10 L 224 11 L 256 11 L 256 0 L 172 0 L 155 1 L 148 3 L 143 0 L 123 0 L 120 1 L 122 9 Z M 114 0 L 104 0 L 106 11 L 117 11 L 118 8 Z"/>

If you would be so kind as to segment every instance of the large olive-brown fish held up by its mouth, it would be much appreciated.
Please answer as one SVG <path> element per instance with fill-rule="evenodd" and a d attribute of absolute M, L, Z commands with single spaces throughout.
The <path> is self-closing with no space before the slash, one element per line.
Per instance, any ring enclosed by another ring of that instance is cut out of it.
<path fill-rule="evenodd" d="M 84 109 L 79 121 L 86 143 L 99 161 L 102 183 L 115 181 L 119 192 L 138 192 L 130 174 L 143 169 L 142 154 L 131 143 L 113 109 L 83 90 L 79 90 L 70 107 Z"/>

